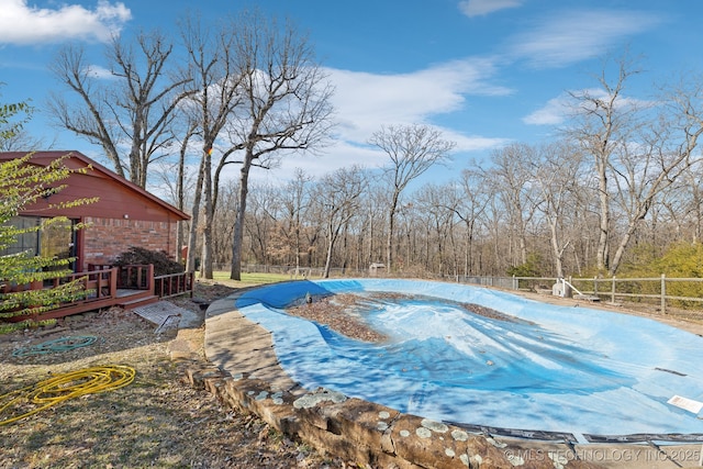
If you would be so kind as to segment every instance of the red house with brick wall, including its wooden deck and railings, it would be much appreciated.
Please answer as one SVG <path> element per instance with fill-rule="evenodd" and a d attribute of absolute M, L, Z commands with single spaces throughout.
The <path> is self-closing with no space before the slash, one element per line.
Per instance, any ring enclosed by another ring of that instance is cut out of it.
<path fill-rule="evenodd" d="M 24 157 L 22 152 L 0 153 L 0 163 Z M 58 309 L 35 319 L 63 317 L 85 311 L 120 305 L 135 308 L 163 297 L 190 292 L 192 272 L 154 276 L 154 266 L 114 267 L 116 257 L 133 246 L 164 252 L 177 258 L 178 222 L 189 215 L 164 202 L 141 187 L 91 160 L 79 152 L 36 152 L 29 164 L 47 166 L 51 161 L 67 156 L 64 165 L 74 172 L 58 182 L 66 186 L 57 193 L 24 206 L 11 223 L 15 226 L 38 226 L 43 219 L 66 216 L 68 221 L 52 224 L 41 231 L 20 235 L 18 242 L 0 255 L 29 250 L 43 257 L 75 258 L 74 273 L 55 279 L 54 283 L 14 286 L 4 283 L 3 291 L 53 288 L 64 281 L 78 279 L 90 294 L 78 301 L 63 303 Z M 98 201 L 74 208 L 57 208 L 64 201 L 94 198 Z M 82 230 L 71 230 L 76 224 L 86 224 Z M 0 279 L 1 280 L 1 279 Z"/>

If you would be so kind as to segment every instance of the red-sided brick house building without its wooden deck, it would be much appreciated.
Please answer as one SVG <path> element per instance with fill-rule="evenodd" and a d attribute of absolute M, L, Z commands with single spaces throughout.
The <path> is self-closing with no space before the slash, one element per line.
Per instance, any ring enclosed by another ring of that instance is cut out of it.
<path fill-rule="evenodd" d="M 0 153 L 0 163 L 25 155 L 22 152 Z M 46 257 L 75 257 L 76 272 L 86 271 L 91 265 L 110 264 L 132 246 L 161 250 L 177 258 L 177 223 L 189 220 L 186 213 L 79 152 L 36 152 L 30 164 L 46 166 L 65 155 L 69 155 L 65 160 L 68 168 L 90 166 L 92 169 L 70 175 L 62 181 L 67 186 L 64 190 L 24 208 L 13 223 L 27 226 L 40 223 L 42 217 L 65 215 L 71 224 L 87 223 L 88 227 L 74 232 L 69 226 L 53 226 L 40 234 L 30 233 L 13 246 L 15 250 L 32 249 Z M 60 201 L 92 197 L 99 197 L 99 200 L 71 209 L 49 208 Z"/>

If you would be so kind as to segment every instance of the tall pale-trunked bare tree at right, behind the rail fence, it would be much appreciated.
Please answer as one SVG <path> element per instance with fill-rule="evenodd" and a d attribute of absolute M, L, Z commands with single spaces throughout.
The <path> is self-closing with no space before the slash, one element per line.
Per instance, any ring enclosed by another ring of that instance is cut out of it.
<path fill-rule="evenodd" d="M 699 163 L 703 134 L 700 80 L 665 89 L 643 104 L 623 96 L 627 79 L 636 74 L 632 65 L 624 59 L 616 65 L 617 77 L 610 81 L 604 71 L 598 93 L 573 96 L 578 120 L 568 131 L 594 158 L 601 212 L 596 261 L 599 271 L 610 276 L 659 196 Z M 612 228 L 614 209 L 623 222 L 620 237 Z"/>

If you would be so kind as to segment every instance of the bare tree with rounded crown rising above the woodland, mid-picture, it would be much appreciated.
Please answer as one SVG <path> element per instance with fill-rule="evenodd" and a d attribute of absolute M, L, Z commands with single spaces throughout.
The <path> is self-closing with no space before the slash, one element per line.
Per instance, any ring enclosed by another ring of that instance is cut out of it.
<path fill-rule="evenodd" d="M 411 181 L 433 165 L 448 160 L 455 143 L 443 139 L 438 130 L 421 124 L 382 126 L 373 133 L 369 143 L 386 152 L 391 159 L 391 164 L 384 170 L 392 191 L 388 208 L 386 243 L 386 268 L 390 272 L 393 268 L 395 216 L 401 194 Z"/>

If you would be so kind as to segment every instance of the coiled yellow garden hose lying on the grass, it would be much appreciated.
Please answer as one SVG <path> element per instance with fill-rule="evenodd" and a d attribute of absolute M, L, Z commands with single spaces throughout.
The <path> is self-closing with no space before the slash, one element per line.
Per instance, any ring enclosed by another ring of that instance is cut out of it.
<path fill-rule="evenodd" d="M 0 395 L 0 425 L 29 417 L 68 399 L 123 388 L 134 381 L 135 375 L 134 368 L 122 365 L 91 367 L 9 392 Z"/>

